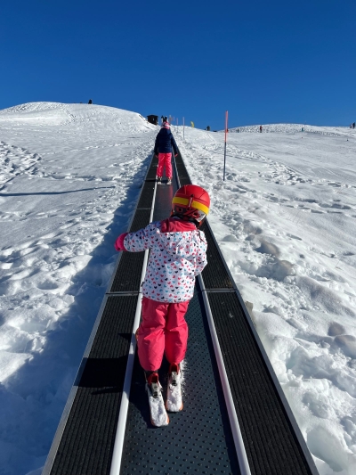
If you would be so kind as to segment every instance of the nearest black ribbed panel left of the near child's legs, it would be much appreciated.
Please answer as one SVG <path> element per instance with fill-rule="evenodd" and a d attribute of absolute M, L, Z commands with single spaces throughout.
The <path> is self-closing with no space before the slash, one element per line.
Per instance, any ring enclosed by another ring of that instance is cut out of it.
<path fill-rule="evenodd" d="M 136 300 L 107 298 L 52 475 L 109 473 Z"/>

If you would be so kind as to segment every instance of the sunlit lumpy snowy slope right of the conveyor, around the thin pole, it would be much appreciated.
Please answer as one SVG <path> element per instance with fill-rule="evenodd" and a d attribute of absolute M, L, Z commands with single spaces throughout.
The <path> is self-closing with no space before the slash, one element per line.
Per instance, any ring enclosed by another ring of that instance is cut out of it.
<path fill-rule="evenodd" d="M 356 133 L 291 128 L 229 134 L 225 182 L 223 133 L 186 127 L 180 148 L 320 474 L 352 475 Z"/>

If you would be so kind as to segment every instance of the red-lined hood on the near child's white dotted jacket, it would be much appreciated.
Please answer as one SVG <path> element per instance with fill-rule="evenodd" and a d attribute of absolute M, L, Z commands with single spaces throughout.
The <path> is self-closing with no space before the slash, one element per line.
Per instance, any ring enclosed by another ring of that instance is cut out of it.
<path fill-rule="evenodd" d="M 174 218 L 161 222 L 158 239 L 162 250 L 180 258 L 189 258 L 196 253 L 201 242 L 205 242 L 205 238 L 197 232 L 196 225 Z"/>

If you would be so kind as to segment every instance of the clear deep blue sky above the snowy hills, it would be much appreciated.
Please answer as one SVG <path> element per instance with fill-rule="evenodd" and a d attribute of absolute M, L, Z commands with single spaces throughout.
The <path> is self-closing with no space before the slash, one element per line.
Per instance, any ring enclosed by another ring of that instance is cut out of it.
<path fill-rule="evenodd" d="M 354 0 L 2 3 L 0 109 L 87 102 L 196 127 L 356 120 Z"/>

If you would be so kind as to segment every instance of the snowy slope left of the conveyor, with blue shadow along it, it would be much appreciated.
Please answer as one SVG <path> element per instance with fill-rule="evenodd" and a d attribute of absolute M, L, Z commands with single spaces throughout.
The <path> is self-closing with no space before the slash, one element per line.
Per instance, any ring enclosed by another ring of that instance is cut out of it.
<path fill-rule="evenodd" d="M 0 111 L 0 473 L 44 464 L 150 160 L 139 114 Z"/>

